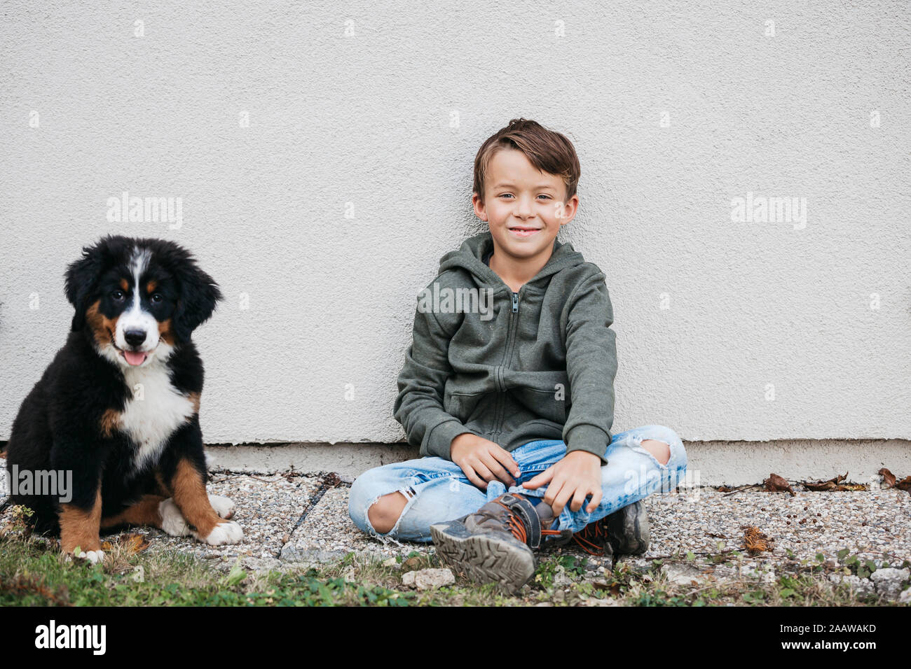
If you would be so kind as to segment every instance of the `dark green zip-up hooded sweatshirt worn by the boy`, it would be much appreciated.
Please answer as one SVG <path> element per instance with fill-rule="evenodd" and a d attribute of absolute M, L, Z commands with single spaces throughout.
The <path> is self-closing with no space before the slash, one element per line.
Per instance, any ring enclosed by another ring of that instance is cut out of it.
<path fill-rule="evenodd" d="M 514 293 L 485 264 L 493 243 L 466 239 L 418 295 L 395 420 L 422 456 L 451 460 L 453 439 L 473 432 L 507 451 L 560 439 L 606 462 L 617 346 L 604 274 L 554 240 Z"/>

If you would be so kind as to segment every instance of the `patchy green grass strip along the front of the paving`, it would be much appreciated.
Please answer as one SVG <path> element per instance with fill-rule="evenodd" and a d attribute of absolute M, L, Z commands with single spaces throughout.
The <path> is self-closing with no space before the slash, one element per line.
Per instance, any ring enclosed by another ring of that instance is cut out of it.
<path fill-rule="evenodd" d="M 7 528 L 9 529 L 9 528 Z M 688 563 L 698 568 L 736 564 L 732 552 L 705 559 L 681 554 L 679 559 L 654 560 L 646 569 L 619 562 L 612 572 L 590 572 L 587 559 L 565 552 L 540 557 L 537 572 L 514 595 L 499 593 L 493 584 L 476 584 L 457 575 L 455 584 L 434 591 L 413 591 L 402 584 L 404 573 L 441 566 L 435 553 L 412 552 L 392 561 L 349 553 L 318 568 L 248 573 L 239 565 L 224 573 L 189 553 L 135 552 L 129 535 L 111 539 L 103 564 L 69 560 L 53 540 L 28 537 L 21 527 L 0 535 L 0 605 L 77 606 L 460 606 L 460 605 L 632 605 L 713 606 L 844 606 L 885 604 L 875 596 L 852 593 L 834 585 L 827 574 L 865 573 L 872 563 L 838 555 L 839 566 L 783 557 L 771 583 L 759 578 L 707 580 L 699 585 L 671 583 L 663 563 Z M 899 566 L 899 565 L 896 565 Z"/>

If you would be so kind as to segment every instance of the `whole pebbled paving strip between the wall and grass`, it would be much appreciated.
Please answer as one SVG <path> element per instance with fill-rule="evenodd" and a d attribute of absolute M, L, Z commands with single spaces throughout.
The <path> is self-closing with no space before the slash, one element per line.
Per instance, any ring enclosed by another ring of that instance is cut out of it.
<path fill-rule="evenodd" d="M 240 544 L 207 546 L 188 537 L 139 530 L 151 544 L 148 550 L 192 552 L 225 569 L 238 557 L 251 569 L 265 569 L 332 562 L 352 551 L 390 557 L 433 550 L 429 544 L 380 542 L 360 532 L 348 517 L 348 487 L 333 474 L 213 473 L 209 492 L 235 502 L 237 513 L 233 520 L 244 531 Z M 820 552 L 825 558 L 834 559 L 841 549 L 871 558 L 877 564 L 884 554 L 893 565 L 911 560 L 911 495 L 894 489 L 797 491 L 793 497 L 787 492 L 695 489 L 657 493 L 646 504 L 651 522 L 650 550 L 640 557 L 623 558 L 636 566 L 645 567 L 652 559 L 675 553 L 743 552 L 746 525 L 756 527 L 771 540 L 771 552 L 756 557 L 744 554 L 739 567 L 674 567 L 669 575 L 684 581 L 699 580 L 712 573 L 716 578 L 732 578 L 743 573 L 768 572 L 776 564 L 788 562 L 787 549 L 798 560 L 814 560 Z M 0 514 L 0 526 L 9 513 L 6 509 Z M 558 550 L 586 554 L 572 544 Z M 600 566 L 597 560 L 589 563 L 589 569 L 596 573 Z"/>

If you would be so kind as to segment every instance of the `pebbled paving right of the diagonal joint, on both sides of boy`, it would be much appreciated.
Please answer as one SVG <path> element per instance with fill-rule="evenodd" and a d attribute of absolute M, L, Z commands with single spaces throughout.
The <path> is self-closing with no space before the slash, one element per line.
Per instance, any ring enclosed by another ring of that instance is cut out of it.
<path fill-rule="evenodd" d="M 345 552 L 373 552 L 384 556 L 425 552 L 426 544 L 380 542 L 360 532 L 348 518 L 347 489 L 326 492 L 307 514 L 306 520 L 285 547 L 283 557 L 330 561 Z M 815 559 L 817 553 L 835 557 L 848 549 L 862 558 L 889 563 L 911 560 L 911 495 L 897 490 L 863 492 L 762 492 L 732 494 L 712 489 L 690 492 L 657 493 L 646 502 L 651 524 L 648 552 L 640 557 L 624 557 L 637 566 L 648 566 L 656 558 L 675 553 L 743 552 L 741 568 L 732 573 L 726 565 L 708 566 L 703 575 L 715 573 L 724 578 L 742 573 L 762 573 L 789 559 L 787 549 L 797 560 Z M 752 525 L 772 540 L 771 552 L 750 557 L 744 551 L 743 526 Z M 719 548 L 719 542 L 722 547 Z M 296 552 L 294 554 L 293 552 Z M 592 570 L 604 561 L 591 558 L 570 544 L 560 552 L 586 555 Z"/>

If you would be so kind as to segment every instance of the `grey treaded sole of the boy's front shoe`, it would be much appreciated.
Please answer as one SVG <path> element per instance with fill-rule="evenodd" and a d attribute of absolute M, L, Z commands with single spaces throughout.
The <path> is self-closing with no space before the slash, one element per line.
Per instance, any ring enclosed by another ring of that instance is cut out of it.
<path fill-rule="evenodd" d="M 492 534 L 472 534 L 461 522 L 430 526 L 440 561 L 473 581 L 497 583 L 515 593 L 535 573 L 535 555 L 525 544 Z"/>

